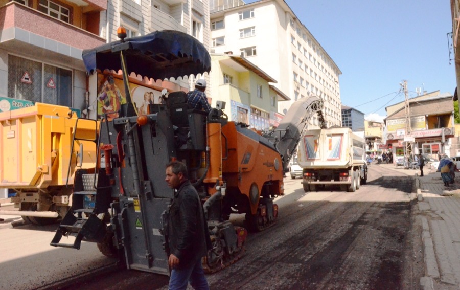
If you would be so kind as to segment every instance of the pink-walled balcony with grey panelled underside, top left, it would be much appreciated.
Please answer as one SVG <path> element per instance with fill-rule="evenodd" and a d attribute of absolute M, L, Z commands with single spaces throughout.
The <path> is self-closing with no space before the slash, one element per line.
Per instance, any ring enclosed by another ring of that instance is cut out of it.
<path fill-rule="evenodd" d="M 84 69 L 83 49 L 105 43 L 98 35 L 15 2 L 0 7 L 0 23 L 0 49 L 64 61 L 76 69 Z"/>

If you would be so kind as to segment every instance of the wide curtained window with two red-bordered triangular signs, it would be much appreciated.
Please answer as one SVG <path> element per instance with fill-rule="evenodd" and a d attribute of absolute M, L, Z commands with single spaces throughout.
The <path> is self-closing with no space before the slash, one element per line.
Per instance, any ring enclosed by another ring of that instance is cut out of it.
<path fill-rule="evenodd" d="M 25 78 L 29 81 L 23 81 Z M 69 96 L 72 96 L 71 70 L 8 56 L 8 97 L 72 107 Z"/>

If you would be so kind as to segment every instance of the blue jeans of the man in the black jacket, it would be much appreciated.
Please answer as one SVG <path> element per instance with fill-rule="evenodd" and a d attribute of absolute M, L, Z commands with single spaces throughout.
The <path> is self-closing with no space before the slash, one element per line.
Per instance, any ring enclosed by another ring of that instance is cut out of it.
<path fill-rule="evenodd" d="M 194 289 L 209 290 L 208 281 L 204 277 L 201 259 L 198 259 L 198 261 L 188 267 L 173 269 L 171 271 L 171 278 L 169 279 L 169 290 L 185 290 L 189 281 Z"/>

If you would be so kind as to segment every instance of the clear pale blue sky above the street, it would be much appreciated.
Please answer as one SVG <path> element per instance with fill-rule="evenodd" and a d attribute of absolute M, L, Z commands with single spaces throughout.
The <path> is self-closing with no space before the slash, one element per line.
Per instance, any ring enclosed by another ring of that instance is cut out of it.
<path fill-rule="evenodd" d="M 285 2 L 342 72 L 342 104 L 366 119 L 381 121 L 385 107 L 404 101 L 404 80 L 409 98 L 417 90 L 454 94 L 449 0 Z"/>

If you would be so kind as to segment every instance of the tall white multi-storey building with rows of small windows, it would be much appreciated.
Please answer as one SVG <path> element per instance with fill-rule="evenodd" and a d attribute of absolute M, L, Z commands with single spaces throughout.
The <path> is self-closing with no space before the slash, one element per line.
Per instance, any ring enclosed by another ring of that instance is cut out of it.
<path fill-rule="evenodd" d="M 291 99 L 280 103 L 280 113 L 297 99 L 317 95 L 325 100 L 328 126 L 340 125 L 341 72 L 285 1 L 210 3 L 211 51 L 241 55 L 277 80 L 274 86 Z M 316 117 L 311 123 L 317 125 Z"/>

